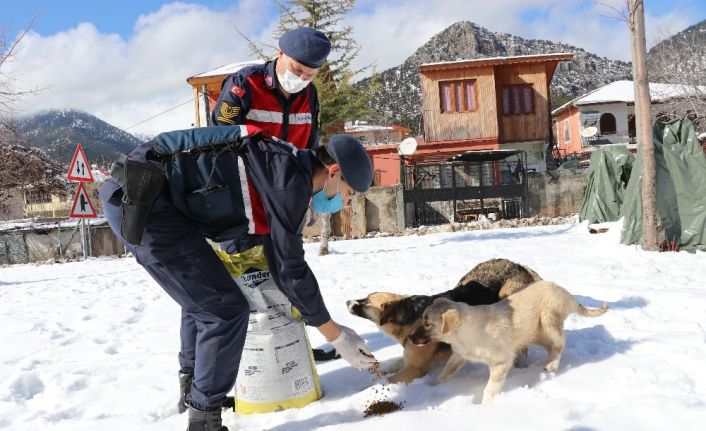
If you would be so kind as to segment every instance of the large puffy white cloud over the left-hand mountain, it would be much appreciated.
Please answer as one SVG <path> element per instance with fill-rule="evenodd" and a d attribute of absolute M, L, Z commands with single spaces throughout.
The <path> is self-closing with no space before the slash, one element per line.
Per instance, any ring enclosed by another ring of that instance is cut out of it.
<path fill-rule="evenodd" d="M 9 73 L 19 78 L 21 88 L 42 91 L 18 108 L 28 113 L 81 109 L 127 128 L 190 101 L 189 76 L 253 57 L 236 25 L 255 40 L 271 43 L 271 29 L 258 25 L 266 12 L 258 4 L 246 0 L 225 12 L 165 5 L 140 16 L 128 40 L 101 34 L 90 23 L 46 37 L 29 34 Z M 155 134 L 188 128 L 193 121 L 191 102 L 130 131 Z"/>

